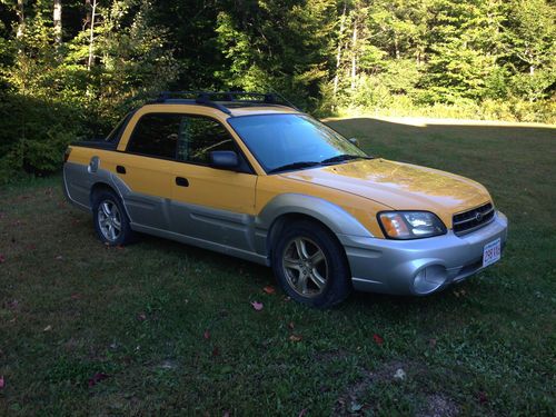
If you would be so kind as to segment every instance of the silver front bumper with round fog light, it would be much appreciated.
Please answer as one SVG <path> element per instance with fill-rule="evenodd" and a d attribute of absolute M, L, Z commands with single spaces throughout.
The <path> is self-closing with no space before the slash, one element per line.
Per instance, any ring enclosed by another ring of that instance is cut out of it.
<path fill-rule="evenodd" d="M 351 268 L 354 288 L 394 295 L 426 295 L 483 269 L 485 245 L 506 244 L 508 220 L 500 211 L 468 235 L 389 240 L 338 235 Z"/>

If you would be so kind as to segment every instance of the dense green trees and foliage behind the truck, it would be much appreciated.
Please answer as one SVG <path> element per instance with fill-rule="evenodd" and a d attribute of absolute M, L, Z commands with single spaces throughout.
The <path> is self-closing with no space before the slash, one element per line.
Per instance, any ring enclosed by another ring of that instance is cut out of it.
<path fill-rule="evenodd" d="M 0 1 L 3 115 L 26 113 L 0 123 L 4 170 L 56 170 L 62 143 L 165 89 L 275 90 L 316 115 L 556 118 L 548 0 L 64 0 L 61 42 L 53 3 Z"/>

